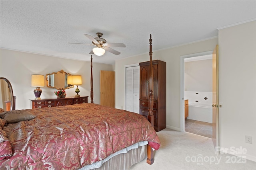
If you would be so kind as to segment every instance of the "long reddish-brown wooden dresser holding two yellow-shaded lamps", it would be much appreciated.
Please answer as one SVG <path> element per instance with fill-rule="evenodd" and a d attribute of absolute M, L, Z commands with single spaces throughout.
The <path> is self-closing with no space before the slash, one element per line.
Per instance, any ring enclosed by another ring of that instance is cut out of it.
<path fill-rule="evenodd" d="M 32 109 L 34 108 L 42 108 L 42 107 L 56 107 L 56 106 L 65 106 L 72 104 L 81 104 L 88 103 L 88 96 L 80 96 L 76 97 L 66 97 L 66 98 L 46 98 L 41 100 L 31 100 Z"/>

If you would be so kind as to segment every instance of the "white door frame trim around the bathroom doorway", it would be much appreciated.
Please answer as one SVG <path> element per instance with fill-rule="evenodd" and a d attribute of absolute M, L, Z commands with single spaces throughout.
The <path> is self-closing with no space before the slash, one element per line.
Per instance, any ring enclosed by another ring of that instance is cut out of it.
<path fill-rule="evenodd" d="M 185 131 L 184 116 L 184 59 L 203 55 L 212 55 L 213 51 L 194 53 L 180 56 L 180 131 Z"/>

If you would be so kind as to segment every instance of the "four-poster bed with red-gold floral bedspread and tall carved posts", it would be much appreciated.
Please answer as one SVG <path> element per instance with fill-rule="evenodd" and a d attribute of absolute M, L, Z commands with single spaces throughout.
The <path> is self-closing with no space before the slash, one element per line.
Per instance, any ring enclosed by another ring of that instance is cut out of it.
<path fill-rule="evenodd" d="M 160 140 L 152 112 L 151 35 L 149 54 L 148 120 L 94 104 L 91 57 L 91 103 L 0 113 L 0 169 L 129 169 L 146 151 L 152 164 Z"/>

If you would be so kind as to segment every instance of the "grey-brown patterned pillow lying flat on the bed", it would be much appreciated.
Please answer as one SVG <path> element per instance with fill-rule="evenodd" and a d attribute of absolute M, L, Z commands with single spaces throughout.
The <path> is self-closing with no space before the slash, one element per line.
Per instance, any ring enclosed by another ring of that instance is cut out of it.
<path fill-rule="evenodd" d="M 29 111 L 24 110 L 5 111 L 0 115 L 7 121 L 7 123 L 16 123 L 23 120 L 31 120 L 36 117 Z"/>

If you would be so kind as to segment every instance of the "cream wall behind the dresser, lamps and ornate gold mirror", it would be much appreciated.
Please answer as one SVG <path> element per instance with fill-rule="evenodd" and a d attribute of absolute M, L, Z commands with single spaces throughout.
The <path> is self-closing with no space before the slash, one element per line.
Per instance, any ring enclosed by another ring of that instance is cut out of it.
<path fill-rule="evenodd" d="M 88 59 L 90 60 L 90 59 Z M 92 60 L 93 61 L 93 60 Z M 93 63 L 94 103 L 100 104 L 100 70 L 112 70 L 110 64 Z M 29 109 L 30 100 L 34 99 L 34 88 L 30 87 L 31 74 L 46 75 L 64 70 L 73 75 L 82 75 L 82 85 L 78 86 L 80 96 L 89 96 L 90 103 L 90 61 L 77 61 L 1 49 L 0 76 L 7 78 L 16 96 L 16 109 Z M 46 82 L 45 82 L 46 84 Z M 41 98 L 55 98 L 54 88 L 42 87 Z M 76 95 L 75 88 L 67 89 L 67 97 Z"/>

